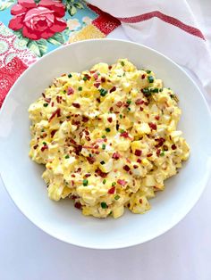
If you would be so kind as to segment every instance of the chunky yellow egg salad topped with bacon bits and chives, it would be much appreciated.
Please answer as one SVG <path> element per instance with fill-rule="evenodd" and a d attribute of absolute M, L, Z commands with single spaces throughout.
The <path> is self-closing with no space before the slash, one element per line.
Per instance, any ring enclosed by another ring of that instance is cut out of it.
<path fill-rule="evenodd" d="M 190 154 L 177 96 L 127 59 L 55 78 L 29 113 L 30 158 L 46 166 L 49 198 L 84 215 L 144 213 Z"/>

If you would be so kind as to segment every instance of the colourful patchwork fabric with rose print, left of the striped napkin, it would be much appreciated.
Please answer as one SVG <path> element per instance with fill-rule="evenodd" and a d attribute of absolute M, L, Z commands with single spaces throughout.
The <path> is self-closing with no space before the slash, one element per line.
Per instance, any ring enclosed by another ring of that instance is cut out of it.
<path fill-rule="evenodd" d="M 82 0 L 0 0 L 0 107 L 31 63 L 59 45 L 105 37 L 120 22 Z M 13 77 L 6 69 L 20 62 Z"/>

